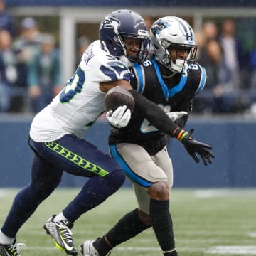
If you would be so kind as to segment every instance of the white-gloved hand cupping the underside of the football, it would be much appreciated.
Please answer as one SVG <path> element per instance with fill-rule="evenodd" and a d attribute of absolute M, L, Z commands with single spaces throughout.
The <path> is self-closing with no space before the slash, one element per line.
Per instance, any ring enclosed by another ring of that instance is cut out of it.
<path fill-rule="evenodd" d="M 106 117 L 113 127 L 123 128 L 127 126 L 131 119 L 131 110 L 129 110 L 126 105 L 123 105 L 117 107 L 114 111 L 107 111 Z"/>

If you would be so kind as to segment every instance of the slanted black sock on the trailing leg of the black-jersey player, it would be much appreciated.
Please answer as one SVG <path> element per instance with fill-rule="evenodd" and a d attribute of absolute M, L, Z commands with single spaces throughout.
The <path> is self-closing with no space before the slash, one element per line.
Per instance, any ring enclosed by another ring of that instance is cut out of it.
<path fill-rule="evenodd" d="M 149 227 L 151 227 L 151 225 L 142 223 L 142 220 L 139 218 L 138 209 L 135 209 L 124 215 L 124 217 L 106 233 L 105 237 L 112 247 L 115 247 L 120 243 L 133 238 L 135 235 L 138 235 Z M 106 255 L 107 252 L 112 249 L 112 247 L 107 244 L 104 237 L 96 240 L 93 245 L 100 256 Z"/>

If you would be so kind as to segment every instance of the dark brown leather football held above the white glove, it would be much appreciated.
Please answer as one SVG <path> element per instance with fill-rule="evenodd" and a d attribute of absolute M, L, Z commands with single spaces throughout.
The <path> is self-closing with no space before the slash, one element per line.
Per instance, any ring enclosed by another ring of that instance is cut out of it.
<path fill-rule="evenodd" d="M 105 107 L 106 110 L 116 110 L 117 107 L 122 105 L 127 105 L 131 110 L 131 113 L 134 112 L 135 102 L 132 94 L 119 86 L 113 87 L 105 95 Z"/>

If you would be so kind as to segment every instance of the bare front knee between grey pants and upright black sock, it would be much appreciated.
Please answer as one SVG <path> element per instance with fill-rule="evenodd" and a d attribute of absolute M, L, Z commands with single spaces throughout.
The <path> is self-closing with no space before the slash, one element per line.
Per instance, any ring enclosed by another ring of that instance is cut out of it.
<path fill-rule="evenodd" d="M 150 198 L 156 200 L 168 200 L 169 191 L 169 184 L 166 181 L 157 181 L 148 188 Z"/>

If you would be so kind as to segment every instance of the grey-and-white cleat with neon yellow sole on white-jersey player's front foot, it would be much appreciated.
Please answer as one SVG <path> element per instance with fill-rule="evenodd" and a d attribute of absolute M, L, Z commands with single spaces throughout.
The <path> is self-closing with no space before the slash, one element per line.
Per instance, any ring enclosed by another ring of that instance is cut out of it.
<path fill-rule="evenodd" d="M 70 230 L 73 227 L 73 223 L 68 220 L 54 221 L 54 218 L 55 215 L 50 217 L 46 224 L 43 225 L 43 229 L 46 230 L 48 235 L 51 235 L 58 249 L 65 250 L 69 255 L 78 255 L 74 247 L 73 233 Z"/>

